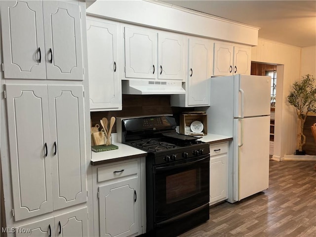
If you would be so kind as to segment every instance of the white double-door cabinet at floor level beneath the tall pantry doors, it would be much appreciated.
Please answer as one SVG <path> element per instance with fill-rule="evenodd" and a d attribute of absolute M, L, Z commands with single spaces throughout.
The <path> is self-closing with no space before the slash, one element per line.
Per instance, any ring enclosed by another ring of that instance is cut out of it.
<path fill-rule="evenodd" d="M 15 228 L 16 237 L 87 237 L 87 208 L 67 212 Z"/>

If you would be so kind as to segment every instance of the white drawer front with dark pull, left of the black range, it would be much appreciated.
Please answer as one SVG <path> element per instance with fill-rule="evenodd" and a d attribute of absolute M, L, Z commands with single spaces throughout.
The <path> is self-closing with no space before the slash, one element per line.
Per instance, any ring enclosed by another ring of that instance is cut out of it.
<path fill-rule="evenodd" d="M 139 172 L 138 170 L 139 169 L 137 160 L 98 167 L 97 181 L 102 182 L 110 179 L 116 179 L 132 174 L 137 174 Z"/>

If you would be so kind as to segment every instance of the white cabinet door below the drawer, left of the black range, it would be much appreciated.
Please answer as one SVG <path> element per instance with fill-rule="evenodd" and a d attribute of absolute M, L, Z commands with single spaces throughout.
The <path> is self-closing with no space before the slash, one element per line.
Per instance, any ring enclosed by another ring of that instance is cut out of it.
<path fill-rule="evenodd" d="M 127 237 L 139 231 L 139 187 L 138 177 L 99 187 L 100 236 Z"/>

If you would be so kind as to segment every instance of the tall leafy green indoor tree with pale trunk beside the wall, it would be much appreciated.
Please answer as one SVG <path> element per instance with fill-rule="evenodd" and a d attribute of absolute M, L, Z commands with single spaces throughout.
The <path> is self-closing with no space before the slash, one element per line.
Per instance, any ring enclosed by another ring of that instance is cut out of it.
<path fill-rule="evenodd" d="M 302 147 L 306 142 L 303 134 L 304 123 L 309 113 L 316 113 L 316 85 L 313 75 L 304 75 L 300 81 L 292 84 L 287 102 L 296 108 L 296 113 L 301 121 L 301 127 L 297 134 L 297 150 L 295 155 L 305 155 Z"/>

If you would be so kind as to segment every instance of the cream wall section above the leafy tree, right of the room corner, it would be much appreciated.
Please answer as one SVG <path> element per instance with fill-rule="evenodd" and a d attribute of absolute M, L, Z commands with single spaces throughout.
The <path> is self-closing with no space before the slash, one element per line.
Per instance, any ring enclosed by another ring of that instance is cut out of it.
<path fill-rule="evenodd" d="M 302 48 L 301 76 L 306 74 L 316 77 L 316 45 Z"/>

